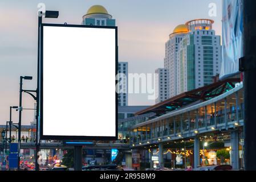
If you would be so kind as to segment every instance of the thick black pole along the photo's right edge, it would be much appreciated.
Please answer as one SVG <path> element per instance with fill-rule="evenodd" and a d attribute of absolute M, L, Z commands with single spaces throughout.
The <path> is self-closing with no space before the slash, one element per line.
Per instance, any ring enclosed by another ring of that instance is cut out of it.
<path fill-rule="evenodd" d="M 245 135 L 245 170 L 256 170 L 256 1 L 243 1 L 243 28 L 245 57 L 240 60 L 241 71 L 244 72 L 244 135 Z"/>

